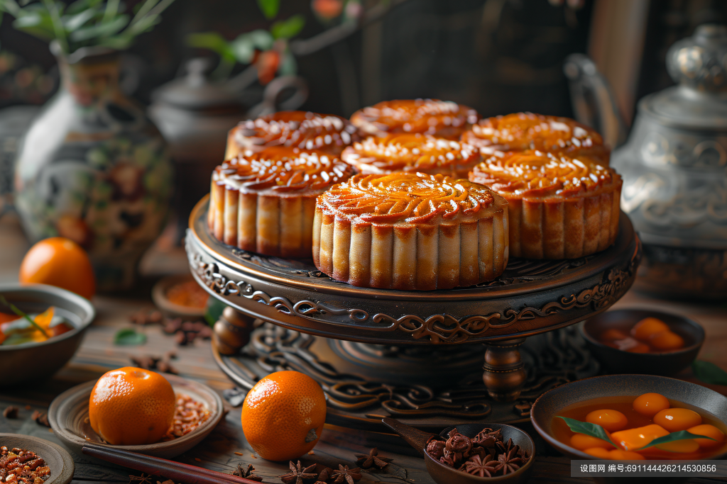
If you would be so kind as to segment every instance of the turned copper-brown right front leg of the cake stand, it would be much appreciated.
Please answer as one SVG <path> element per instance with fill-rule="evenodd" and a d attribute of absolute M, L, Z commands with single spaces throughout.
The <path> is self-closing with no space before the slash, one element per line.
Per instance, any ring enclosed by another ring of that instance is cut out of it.
<path fill-rule="evenodd" d="M 485 343 L 482 380 L 494 401 L 514 401 L 520 396 L 526 379 L 520 346 L 525 338 Z"/>

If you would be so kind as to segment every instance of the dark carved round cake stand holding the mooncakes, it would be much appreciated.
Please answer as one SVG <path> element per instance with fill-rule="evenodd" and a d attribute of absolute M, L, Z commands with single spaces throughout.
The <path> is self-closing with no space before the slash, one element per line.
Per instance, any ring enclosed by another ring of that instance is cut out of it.
<path fill-rule="evenodd" d="M 572 328 L 553 330 L 619 300 L 641 258 L 622 213 L 616 243 L 585 258 L 511 258 L 498 279 L 454 290 L 353 287 L 310 260 L 223 244 L 208 202 L 192 211 L 185 248 L 199 284 L 230 306 L 214 327 L 220 368 L 245 389 L 282 369 L 309 374 L 326 391 L 326 422 L 344 427 L 526 419 L 550 387 L 598 372 Z"/>

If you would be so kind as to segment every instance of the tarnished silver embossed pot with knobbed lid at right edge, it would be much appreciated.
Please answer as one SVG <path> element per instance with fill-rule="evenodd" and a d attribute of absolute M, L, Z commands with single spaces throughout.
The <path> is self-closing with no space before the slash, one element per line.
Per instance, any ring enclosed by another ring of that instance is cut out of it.
<path fill-rule="evenodd" d="M 640 100 L 627 144 L 621 208 L 644 244 L 638 287 L 661 295 L 727 296 L 727 27 L 701 25 L 674 44 L 678 83 Z"/>

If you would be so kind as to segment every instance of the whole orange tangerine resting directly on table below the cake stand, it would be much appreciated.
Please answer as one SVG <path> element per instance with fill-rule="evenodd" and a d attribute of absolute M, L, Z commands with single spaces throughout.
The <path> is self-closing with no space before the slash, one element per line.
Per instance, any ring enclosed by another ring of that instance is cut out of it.
<path fill-rule="evenodd" d="M 300 372 L 262 378 L 242 405 L 242 431 L 263 459 L 288 461 L 310 451 L 326 422 L 326 395 L 316 380 Z"/>

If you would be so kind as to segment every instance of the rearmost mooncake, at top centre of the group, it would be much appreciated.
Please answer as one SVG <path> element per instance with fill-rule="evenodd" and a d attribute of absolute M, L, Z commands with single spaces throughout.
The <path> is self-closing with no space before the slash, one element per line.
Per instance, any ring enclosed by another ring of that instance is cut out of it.
<path fill-rule="evenodd" d="M 471 107 L 439 99 L 397 99 L 364 107 L 351 115 L 351 123 L 367 134 L 430 134 L 459 139 L 480 116 Z"/>

